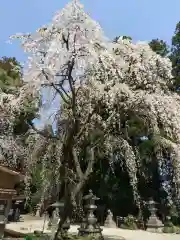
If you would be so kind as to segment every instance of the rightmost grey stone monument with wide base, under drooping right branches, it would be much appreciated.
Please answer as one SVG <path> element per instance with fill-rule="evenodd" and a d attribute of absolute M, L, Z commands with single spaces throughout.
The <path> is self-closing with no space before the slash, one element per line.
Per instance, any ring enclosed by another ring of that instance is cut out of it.
<path fill-rule="evenodd" d="M 148 205 L 149 205 L 150 217 L 146 224 L 146 227 L 147 227 L 146 230 L 149 232 L 162 232 L 164 225 L 156 216 L 155 202 L 151 199 Z"/>

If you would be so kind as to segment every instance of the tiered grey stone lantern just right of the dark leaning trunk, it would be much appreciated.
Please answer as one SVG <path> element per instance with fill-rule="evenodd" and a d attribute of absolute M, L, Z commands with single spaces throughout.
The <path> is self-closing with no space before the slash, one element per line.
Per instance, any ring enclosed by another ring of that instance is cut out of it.
<path fill-rule="evenodd" d="M 85 200 L 85 211 L 86 211 L 86 218 L 84 219 L 83 225 L 78 229 L 80 236 L 92 236 L 96 239 L 103 239 L 102 236 L 102 229 L 97 224 L 97 219 L 94 216 L 94 211 L 96 210 L 97 206 L 95 205 L 95 201 L 99 200 L 92 190 L 89 190 L 89 194 L 86 195 L 83 200 Z"/>

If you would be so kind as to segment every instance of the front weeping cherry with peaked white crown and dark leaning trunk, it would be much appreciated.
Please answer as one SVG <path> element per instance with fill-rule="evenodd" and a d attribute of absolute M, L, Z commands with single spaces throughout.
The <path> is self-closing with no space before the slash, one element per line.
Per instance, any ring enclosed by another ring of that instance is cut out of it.
<path fill-rule="evenodd" d="M 95 152 L 108 135 L 112 115 L 103 125 L 99 115 L 101 99 L 94 99 L 88 82 L 91 69 L 100 67 L 100 55 L 105 52 L 108 56 L 109 45 L 100 26 L 84 13 L 78 1 L 68 4 L 51 24 L 35 34 L 14 37 L 22 39 L 30 54 L 24 81 L 37 92 L 50 88 L 59 97 L 56 134 L 37 130 L 31 124 L 35 137 L 31 135 L 29 140 L 32 154 L 28 168 L 33 169 L 42 161 L 43 197 L 56 184 L 59 196 L 65 198 L 57 238 L 76 206 L 77 194 L 93 171 Z M 96 78 L 91 79 L 92 84 L 96 84 L 94 81 Z M 98 89 L 96 94 L 99 95 Z"/>

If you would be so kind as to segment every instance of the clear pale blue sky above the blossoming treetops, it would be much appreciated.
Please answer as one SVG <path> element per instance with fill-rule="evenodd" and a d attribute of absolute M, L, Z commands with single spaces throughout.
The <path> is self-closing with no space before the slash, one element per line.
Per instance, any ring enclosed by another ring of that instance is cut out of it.
<path fill-rule="evenodd" d="M 32 32 L 51 21 L 66 0 L 5 0 L 0 5 L 0 56 L 25 59 L 18 43 L 9 45 L 16 32 Z M 130 35 L 136 40 L 160 38 L 170 42 L 180 21 L 180 0 L 82 0 L 86 11 L 100 22 L 106 35 Z"/>

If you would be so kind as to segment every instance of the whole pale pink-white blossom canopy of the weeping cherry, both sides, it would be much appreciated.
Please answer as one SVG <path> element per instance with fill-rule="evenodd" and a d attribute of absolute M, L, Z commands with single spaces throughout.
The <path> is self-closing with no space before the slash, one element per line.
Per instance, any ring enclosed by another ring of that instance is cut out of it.
<path fill-rule="evenodd" d="M 135 197 L 136 154 L 122 125 L 125 118 L 137 116 L 150 134 L 159 136 L 160 146 L 169 149 L 175 180 L 180 179 L 180 99 L 170 90 L 168 59 L 146 43 L 133 44 L 122 38 L 116 43 L 107 41 L 78 1 L 69 3 L 35 34 L 15 37 L 22 39 L 25 51 L 31 54 L 24 81 L 32 86 L 24 89 L 18 100 L 13 99 L 15 106 L 21 105 L 23 96 L 35 96 L 42 86 L 53 87 L 61 96 L 57 129 L 61 136 L 67 127 L 62 122 L 72 122 L 73 109 L 65 106 L 71 104 L 75 91 L 76 116 L 80 126 L 86 125 L 83 134 L 77 134 L 76 144 L 80 146 L 93 129 L 101 129 L 106 154 L 119 149 L 124 155 Z M 56 164 L 60 164 L 62 141 L 56 146 L 60 153 Z M 48 159 L 46 152 L 43 163 Z"/>

